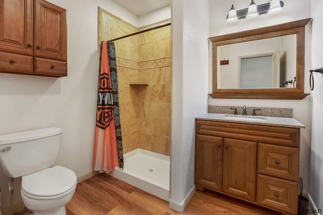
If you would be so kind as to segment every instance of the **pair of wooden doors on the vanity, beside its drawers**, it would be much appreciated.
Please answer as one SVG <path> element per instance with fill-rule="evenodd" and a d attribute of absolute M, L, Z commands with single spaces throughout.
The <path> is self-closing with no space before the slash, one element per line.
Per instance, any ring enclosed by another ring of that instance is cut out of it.
<path fill-rule="evenodd" d="M 196 134 L 196 189 L 255 201 L 256 147 L 256 142 Z"/>

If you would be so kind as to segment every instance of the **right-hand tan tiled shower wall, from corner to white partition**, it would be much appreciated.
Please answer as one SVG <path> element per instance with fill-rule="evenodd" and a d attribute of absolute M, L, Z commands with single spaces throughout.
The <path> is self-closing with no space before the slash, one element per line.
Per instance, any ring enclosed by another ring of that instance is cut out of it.
<path fill-rule="evenodd" d="M 171 138 L 171 27 L 138 35 L 140 147 L 170 155 Z"/>

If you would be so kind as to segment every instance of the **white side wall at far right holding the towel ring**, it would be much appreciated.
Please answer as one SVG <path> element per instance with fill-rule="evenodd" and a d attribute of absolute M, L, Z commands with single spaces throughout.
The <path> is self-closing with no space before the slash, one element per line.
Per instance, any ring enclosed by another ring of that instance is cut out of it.
<path fill-rule="evenodd" d="M 312 69 L 323 66 L 323 2 L 312 0 Z M 309 194 L 317 208 L 323 208 L 323 74 L 315 73 L 313 99 L 312 142 L 310 153 Z"/>

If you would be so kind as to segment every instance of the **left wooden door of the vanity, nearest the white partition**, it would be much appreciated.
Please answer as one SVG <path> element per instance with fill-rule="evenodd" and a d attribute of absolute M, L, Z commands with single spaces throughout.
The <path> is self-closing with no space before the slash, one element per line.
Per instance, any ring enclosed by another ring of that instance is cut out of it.
<path fill-rule="evenodd" d="M 195 184 L 222 190 L 223 138 L 196 134 Z"/>

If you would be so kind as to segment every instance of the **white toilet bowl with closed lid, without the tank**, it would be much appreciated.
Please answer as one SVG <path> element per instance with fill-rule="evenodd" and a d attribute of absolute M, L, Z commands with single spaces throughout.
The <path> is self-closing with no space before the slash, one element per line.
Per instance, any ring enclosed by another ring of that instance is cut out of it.
<path fill-rule="evenodd" d="M 22 177 L 21 198 L 35 215 L 65 215 L 76 181 L 75 173 L 67 168 L 47 168 Z"/>

